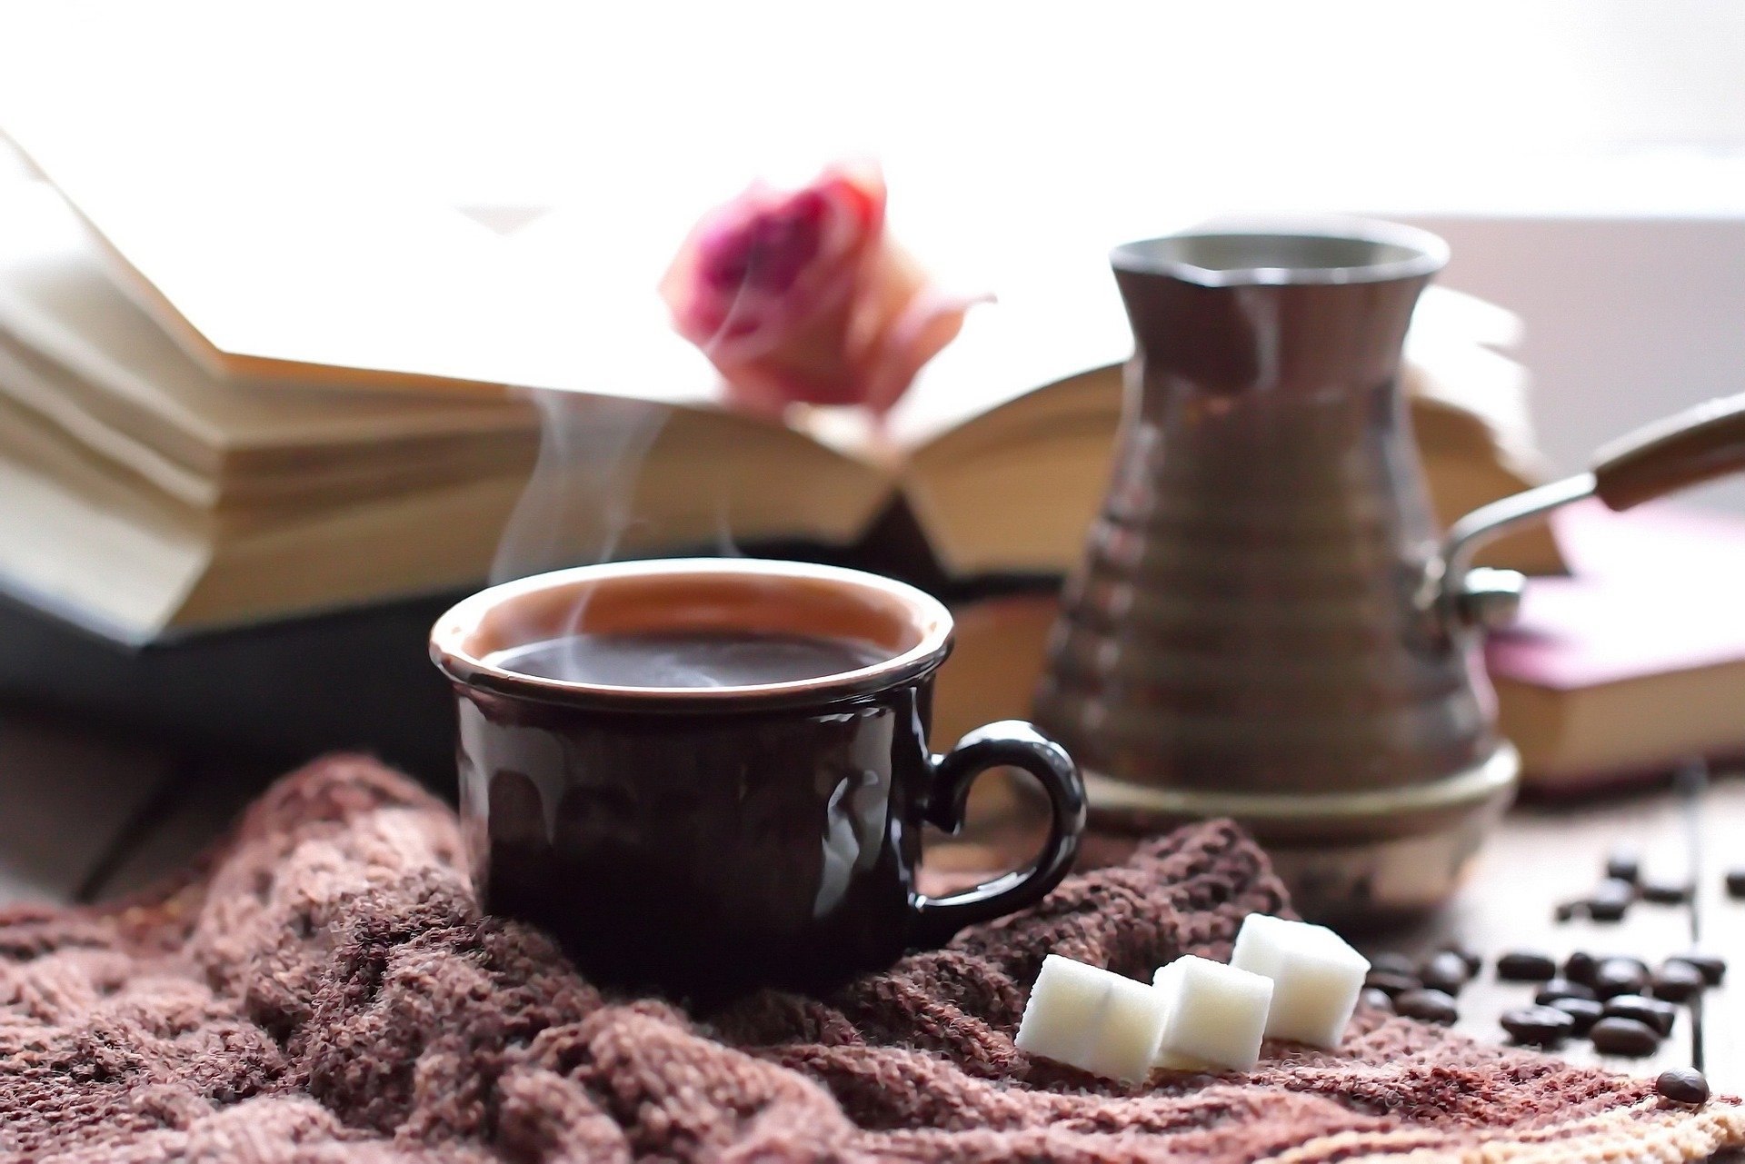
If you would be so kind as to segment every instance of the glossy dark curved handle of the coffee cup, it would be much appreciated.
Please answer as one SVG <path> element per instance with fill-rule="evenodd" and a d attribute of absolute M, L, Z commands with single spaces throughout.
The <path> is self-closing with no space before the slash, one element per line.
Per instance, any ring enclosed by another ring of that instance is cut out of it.
<path fill-rule="evenodd" d="M 1049 796 L 1049 839 L 1023 869 L 1003 873 L 946 897 L 914 899 L 914 941 L 942 946 L 965 925 L 988 921 L 1040 900 L 1071 869 L 1085 827 L 1085 785 L 1078 766 L 1059 743 L 1021 719 L 1003 719 L 963 736 L 951 752 L 934 757 L 934 785 L 925 817 L 946 832 L 963 827 L 963 808 L 975 777 L 989 768 L 1023 768 Z"/>

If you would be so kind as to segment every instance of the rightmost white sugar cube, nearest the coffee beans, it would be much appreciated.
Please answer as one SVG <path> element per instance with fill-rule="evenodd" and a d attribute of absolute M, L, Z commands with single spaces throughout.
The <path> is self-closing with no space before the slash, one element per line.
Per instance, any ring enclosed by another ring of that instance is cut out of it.
<path fill-rule="evenodd" d="M 1324 925 L 1251 913 L 1235 935 L 1230 965 L 1272 979 L 1267 1038 L 1333 1049 L 1358 1005 L 1370 960 Z"/>

